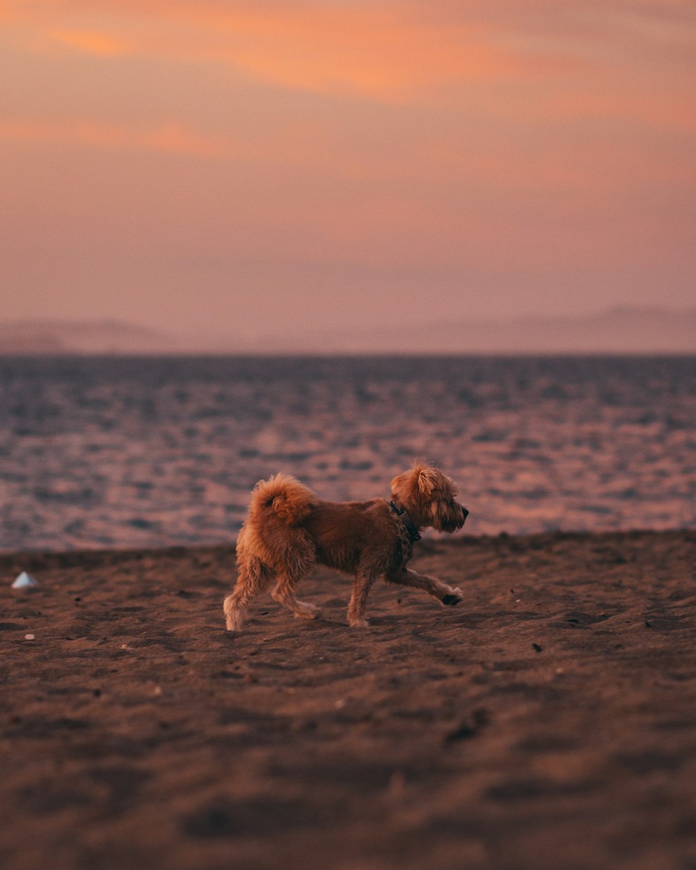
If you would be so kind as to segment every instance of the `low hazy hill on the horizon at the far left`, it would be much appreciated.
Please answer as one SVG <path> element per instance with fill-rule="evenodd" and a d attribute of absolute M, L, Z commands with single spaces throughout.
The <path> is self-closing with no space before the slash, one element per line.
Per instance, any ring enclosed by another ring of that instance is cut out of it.
<path fill-rule="evenodd" d="M 182 342 L 118 320 L 16 320 L 0 323 L 0 353 L 177 353 Z"/>

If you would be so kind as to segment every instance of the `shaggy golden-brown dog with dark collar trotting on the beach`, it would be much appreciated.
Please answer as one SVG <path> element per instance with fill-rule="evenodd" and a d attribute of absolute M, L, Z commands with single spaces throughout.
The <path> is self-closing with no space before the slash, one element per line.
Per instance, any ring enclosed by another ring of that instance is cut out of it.
<path fill-rule="evenodd" d="M 227 630 L 239 631 L 246 606 L 273 580 L 274 599 L 300 619 L 316 619 L 318 608 L 295 597 L 315 564 L 354 576 L 348 605 L 353 628 L 368 625 L 367 596 L 378 577 L 458 605 L 461 590 L 406 567 L 421 530 L 456 532 L 464 525 L 468 511 L 456 499 L 452 480 L 420 462 L 391 481 L 391 501 L 323 501 L 288 474 L 259 480 L 239 532 L 237 584 L 224 599 Z"/>

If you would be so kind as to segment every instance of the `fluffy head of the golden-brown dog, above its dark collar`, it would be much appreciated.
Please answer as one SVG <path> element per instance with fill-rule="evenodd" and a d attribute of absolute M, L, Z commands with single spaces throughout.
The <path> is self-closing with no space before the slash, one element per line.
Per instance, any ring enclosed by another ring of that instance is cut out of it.
<path fill-rule="evenodd" d="M 419 528 L 456 532 L 468 513 L 457 501 L 457 485 L 434 465 L 421 462 L 391 481 L 391 496 Z"/>

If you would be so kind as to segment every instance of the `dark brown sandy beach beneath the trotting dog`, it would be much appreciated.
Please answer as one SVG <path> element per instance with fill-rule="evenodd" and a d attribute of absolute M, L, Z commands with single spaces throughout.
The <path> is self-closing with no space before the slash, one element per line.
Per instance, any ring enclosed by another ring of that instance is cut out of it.
<path fill-rule="evenodd" d="M 0 556 L 4 870 L 696 867 L 696 532 L 460 538 L 224 632 L 231 548 Z M 10 589 L 28 570 L 34 592 Z"/>

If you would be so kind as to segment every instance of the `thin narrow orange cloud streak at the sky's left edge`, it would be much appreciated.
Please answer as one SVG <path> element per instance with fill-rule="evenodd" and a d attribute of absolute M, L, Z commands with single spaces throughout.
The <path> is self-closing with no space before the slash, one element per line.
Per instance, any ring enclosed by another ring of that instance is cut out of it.
<path fill-rule="evenodd" d="M 194 157 L 223 157 L 227 151 L 224 142 L 187 131 L 175 122 L 139 130 L 81 118 L 65 122 L 4 121 L 0 122 L 0 139 L 81 144 L 114 151 L 158 151 Z"/>

